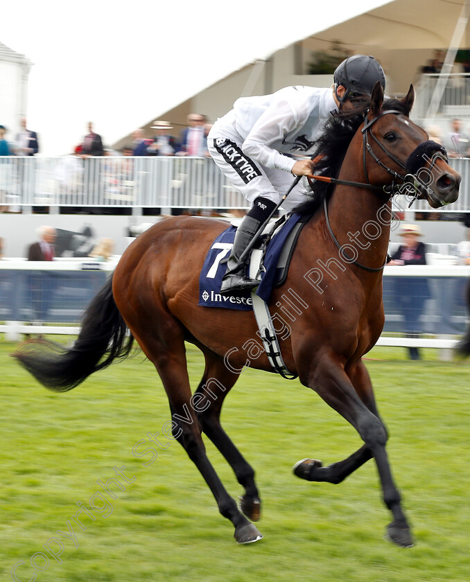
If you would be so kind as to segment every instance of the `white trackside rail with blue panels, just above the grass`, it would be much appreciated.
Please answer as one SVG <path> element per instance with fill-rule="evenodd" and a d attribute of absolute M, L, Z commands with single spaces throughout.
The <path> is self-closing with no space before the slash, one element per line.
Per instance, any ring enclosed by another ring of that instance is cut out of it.
<path fill-rule="evenodd" d="M 31 333 L 76 335 L 82 311 L 118 259 L 107 263 L 92 259 L 0 261 L 0 333 L 6 333 L 10 340 L 21 340 L 22 335 Z M 377 345 L 453 347 L 468 323 L 469 277 L 467 265 L 385 267 L 385 327 Z M 395 284 L 399 279 L 404 287 Z M 424 279 L 428 294 L 420 297 Z M 403 297 L 415 293 L 418 303 L 424 304 L 416 333 L 409 333 L 401 293 Z"/>

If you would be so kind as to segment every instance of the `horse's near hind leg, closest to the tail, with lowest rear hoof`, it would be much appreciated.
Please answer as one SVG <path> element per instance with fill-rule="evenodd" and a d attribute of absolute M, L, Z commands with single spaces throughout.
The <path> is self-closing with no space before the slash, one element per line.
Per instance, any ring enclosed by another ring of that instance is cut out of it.
<path fill-rule="evenodd" d="M 159 321 L 157 330 L 151 326 L 131 330 L 162 378 L 171 407 L 173 436 L 204 477 L 216 498 L 220 513 L 234 524 L 236 541 L 256 542 L 263 536 L 254 524 L 238 511 L 236 502 L 225 490 L 207 457 L 195 412 L 198 403 L 191 398 L 182 326 L 168 313 L 159 313 L 157 321 Z M 163 334 L 164 337 L 160 337 Z"/>

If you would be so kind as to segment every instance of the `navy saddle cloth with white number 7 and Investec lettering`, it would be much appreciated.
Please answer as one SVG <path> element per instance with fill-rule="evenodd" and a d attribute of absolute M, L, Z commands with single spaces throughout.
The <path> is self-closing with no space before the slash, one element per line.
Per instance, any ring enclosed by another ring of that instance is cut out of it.
<path fill-rule="evenodd" d="M 299 233 L 308 218 L 310 218 L 308 215 L 292 214 L 287 220 L 284 220 L 281 227 L 277 225 L 279 220 L 275 222 L 271 226 L 271 229 L 274 227 L 275 233 L 269 235 L 272 236 L 272 239 L 261 258 L 263 268 L 260 270 L 259 265 L 256 265 L 255 268 L 250 265 L 252 272 L 253 270 L 259 272 L 260 283 L 256 289 L 256 295 L 266 303 L 270 299 L 273 286 L 280 285 L 286 279 L 295 243 L 297 243 Z M 236 292 L 233 295 L 220 293 L 222 278 L 227 270 L 224 259 L 228 258 L 232 250 L 235 233 L 235 227 L 227 228 L 214 240 L 207 253 L 199 278 L 198 305 L 200 306 L 252 310 L 252 298 L 249 290 Z M 266 247 L 266 236 L 261 236 L 257 245 L 258 248 Z"/>

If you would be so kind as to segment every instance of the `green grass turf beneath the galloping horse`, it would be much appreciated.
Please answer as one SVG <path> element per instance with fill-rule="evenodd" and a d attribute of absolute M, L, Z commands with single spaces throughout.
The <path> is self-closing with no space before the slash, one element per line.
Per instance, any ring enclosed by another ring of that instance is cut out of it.
<path fill-rule="evenodd" d="M 298 380 L 244 371 L 223 411 L 223 424 L 256 470 L 265 538 L 238 546 L 209 488 L 179 444 L 136 458 L 132 447 L 170 418 L 150 363 L 132 359 L 94 374 L 67 394 L 41 387 L 8 358 L 0 340 L 0 579 L 35 573 L 30 558 L 67 521 L 77 502 L 102 491 L 97 479 L 125 466 L 135 477 L 116 489 L 112 513 L 73 525 L 78 547 L 62 538 L 62 563 L 51 559 L 37 581 L 347 581 L 434 582 L 470 579 L 470 364 L 439 362 L 437 351 L 411 362 L 403 349 L 376 348 L 366 360 L 388 425 L 388 452 L 416 545 L 383 540 L 390 521 L 372 461 L 338 486 L 294 477 L 312 456 L 331 463 L 360 439 Z M 193 387 L 202 356 L 188 346 Z M 237 497 L 232 470 L 207 444 L 209 457 Z M 96 500 L 99 505 L 99 500 Z M 58 546 L 51 543 L 52 549 Z M 37 558 L 41 567 L 44 561 Z"/>

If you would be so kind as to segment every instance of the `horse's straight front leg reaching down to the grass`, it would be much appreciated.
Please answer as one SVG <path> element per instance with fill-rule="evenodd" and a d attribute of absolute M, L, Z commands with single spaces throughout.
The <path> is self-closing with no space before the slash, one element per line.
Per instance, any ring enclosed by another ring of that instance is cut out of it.
<path fill-rule="evenodd" d="M 313 370 L 308 385 L 315 389 L 328 405 L 344 416 L 356 428 L 365 442 L 365 446 L 355 454 L 356 457 L 352 455 L 347 461 L 351 461 L 353 466 L 354 464 L 360 466 L 367 460 L 367 449 L 372 452 L 381 479 L 383 501 L 394 518 L 388 526 L 388 536 L 394 543 L 409 547 L 412 545 L 410 527 L 401 509 L 400 493 L 394 484 L 385 451 L 385 443 L 388 439 L 387 431 L 381 419 L 369 409 L 371 401 L 367 400 L 370 396 L 368 396 L 365 384 L 365 378 L 368 378 L 367 371 L 358 368 L 357 374 L 355 383 L 358 385 L 358 382 L 359 384 L 362 382 L 365 390 L 363 394 L 360 394 L 360 391 L 356 392 L 351 380 L 337 360 L 324 356 Z M 365 405 L 365 401 L 369 407 Z"/>

